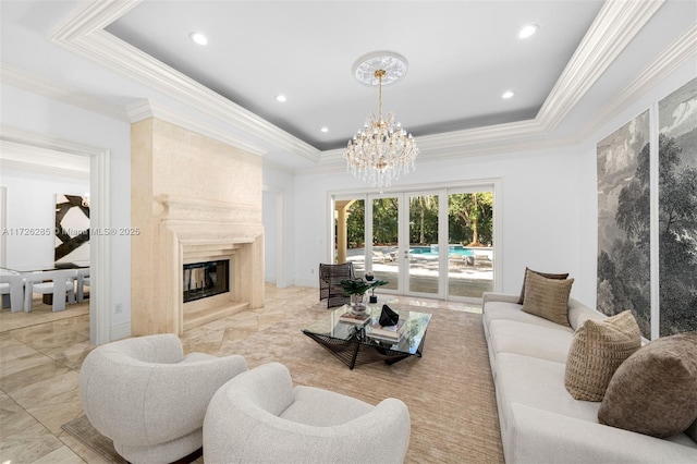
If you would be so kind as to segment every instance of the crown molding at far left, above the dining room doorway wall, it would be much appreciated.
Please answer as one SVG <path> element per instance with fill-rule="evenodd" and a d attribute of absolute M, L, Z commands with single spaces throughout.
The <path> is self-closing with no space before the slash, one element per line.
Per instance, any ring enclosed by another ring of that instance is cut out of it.
<path fill-rule="evenodd" d="M 0 82 L 87 111 L 105 114 L 120 121 L 129 121 L 125 110 L 119 105 L 110 103 L 74 87 L 58 85 L 5 63 L 0 63 Z"/>

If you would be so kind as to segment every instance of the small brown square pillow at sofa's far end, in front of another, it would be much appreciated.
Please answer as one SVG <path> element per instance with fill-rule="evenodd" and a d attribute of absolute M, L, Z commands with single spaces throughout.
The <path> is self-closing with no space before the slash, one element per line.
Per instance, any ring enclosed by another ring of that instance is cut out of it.
<path fill-rule="evenodd" d="M 525 276 L 525 302 L 523 310 L 552 322 L 568 323 L 568 294 L 574 279 L 548 279 L 530 270 Z"/>

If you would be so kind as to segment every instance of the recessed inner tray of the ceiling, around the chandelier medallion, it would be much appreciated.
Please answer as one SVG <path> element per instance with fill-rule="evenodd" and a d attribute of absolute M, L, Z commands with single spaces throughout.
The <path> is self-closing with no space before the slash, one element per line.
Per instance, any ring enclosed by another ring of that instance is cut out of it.
<path fill-rule="evenodd" d="M 406 77 L 384 87 L 383 107 L 414 136 L 535 118 L 601 5 L 156 1 L 107 30 L 325 150 L 345 147 L 377 111 L 377 89 L 352 75 L 354 62 L 376 50 L 409 62 Z M 530 23 L 539 33 L 518 39 Z M 192 30 L 208 45 L 192 42 Z M 506 89 L 515 98 L 503 100 Z"/>

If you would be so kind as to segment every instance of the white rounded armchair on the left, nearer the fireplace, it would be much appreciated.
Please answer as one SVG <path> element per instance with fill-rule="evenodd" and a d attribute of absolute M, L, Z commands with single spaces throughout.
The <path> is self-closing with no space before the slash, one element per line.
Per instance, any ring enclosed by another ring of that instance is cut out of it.
<path fill-rule="evenodd" d="M 183 355 L 174 334 L 97 346 L 80 371 L 87 418 L 131 463 L 170 463 L 201 447 L 218 388 L 247 369 L 242 356 Z"/>

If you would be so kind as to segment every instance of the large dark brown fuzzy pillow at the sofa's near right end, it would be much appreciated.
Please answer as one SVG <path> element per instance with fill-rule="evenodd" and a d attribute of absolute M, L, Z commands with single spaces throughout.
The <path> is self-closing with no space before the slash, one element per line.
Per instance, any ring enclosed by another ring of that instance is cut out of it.
<path fill-rule="evenodd" d="M 617 368 L 598 410 L 612 427 L 665 438 L 697 418 L 697 332 L 641 346 Z"/>

